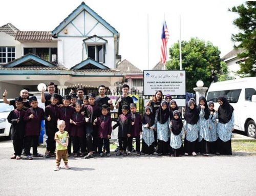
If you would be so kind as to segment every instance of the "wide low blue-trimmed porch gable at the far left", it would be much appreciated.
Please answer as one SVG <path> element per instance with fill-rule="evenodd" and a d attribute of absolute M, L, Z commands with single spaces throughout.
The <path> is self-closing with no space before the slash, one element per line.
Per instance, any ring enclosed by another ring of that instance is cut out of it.
<path fill-rule="evenodd" d="M 46 61 L 36 55 L 28 53 L 20 58 L 8 62 L 2 68 L 60 68 L 55 64 Z"/>

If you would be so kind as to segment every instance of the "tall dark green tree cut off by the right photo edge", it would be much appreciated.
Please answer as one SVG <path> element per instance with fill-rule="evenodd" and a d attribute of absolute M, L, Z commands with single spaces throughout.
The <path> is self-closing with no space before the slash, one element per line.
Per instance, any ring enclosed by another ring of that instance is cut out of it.
<path fill-rule="evenodd" d="M 238 74 L 256 76 L 256 2 L 245 2 L 245 5 L 233 7 L 229 11 L 239 14 L 233 25 L 239 28 L 240 32 L 232 34 L 234 48 L 244 49 L 244 52 L 238 54 L 239 58 L 244 59 L 244 62 L 240 63 Z"/>

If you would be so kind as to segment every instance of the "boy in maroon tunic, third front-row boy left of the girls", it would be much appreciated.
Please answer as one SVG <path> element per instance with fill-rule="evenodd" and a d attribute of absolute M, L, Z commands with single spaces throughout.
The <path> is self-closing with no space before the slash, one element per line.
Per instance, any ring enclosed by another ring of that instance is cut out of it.
<path fill-rule="evenodd" d="M 109 106 L 103 104 L 101 106 L 101 116 L 98 117 L 97 122 L 94 122 L 94 125 L 98 126 L 98 149 L 99 149 L 99 156 L 103 157 L 103 142 L 106 148 L 106 156 L 110 157 L 110 138 L 112 132 L 112 119 L 111 116 L 108 115 L 109 113 Z"/>

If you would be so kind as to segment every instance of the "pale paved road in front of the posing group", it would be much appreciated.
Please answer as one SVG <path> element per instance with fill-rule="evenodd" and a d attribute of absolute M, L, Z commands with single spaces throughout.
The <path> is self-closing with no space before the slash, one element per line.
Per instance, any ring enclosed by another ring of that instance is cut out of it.
<path fill-rule="evenodd" d="M 42 149 L 41 149 L 42 150 Z M 256 156 L 11 160 L 0 141 L 0 195 L 256 195 Z"/>

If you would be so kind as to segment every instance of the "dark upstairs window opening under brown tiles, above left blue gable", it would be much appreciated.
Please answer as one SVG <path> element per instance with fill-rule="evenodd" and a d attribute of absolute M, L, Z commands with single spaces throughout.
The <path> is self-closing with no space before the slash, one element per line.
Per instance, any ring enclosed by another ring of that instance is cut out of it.
<path fill-rule="evenodd" d="M 32 53 L 42 59 L 57 63 L 57 48 L 24 48 L 24 55 Z"/>

